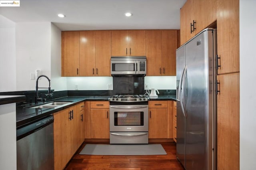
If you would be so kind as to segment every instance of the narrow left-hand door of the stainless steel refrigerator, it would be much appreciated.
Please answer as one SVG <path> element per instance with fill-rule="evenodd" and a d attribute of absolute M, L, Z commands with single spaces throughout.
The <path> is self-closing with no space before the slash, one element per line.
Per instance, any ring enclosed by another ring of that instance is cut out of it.
<path fill-rule="evenodd" d="M 177 98 L 177 143 L 176 156 L 185 167 L 185 116 L 180 103 L 180 86 L 182 75 L 185 68 L 185 46 L 183 45 L 176 51 L 176 98 Z"/>

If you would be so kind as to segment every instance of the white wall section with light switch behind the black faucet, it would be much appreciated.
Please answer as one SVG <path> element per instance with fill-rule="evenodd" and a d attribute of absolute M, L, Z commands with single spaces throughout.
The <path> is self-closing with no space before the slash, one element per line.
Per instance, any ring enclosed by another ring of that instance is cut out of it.
<path fill-rule="evenodd" d="M 51 78 L 51 23 L 16 23 L 16 87 L 17 90 L 36 88 L 36 80 L 30 74 L 36 69 Z M 42 77 L 39 87 L 48 87 L 48 81 Z"/>

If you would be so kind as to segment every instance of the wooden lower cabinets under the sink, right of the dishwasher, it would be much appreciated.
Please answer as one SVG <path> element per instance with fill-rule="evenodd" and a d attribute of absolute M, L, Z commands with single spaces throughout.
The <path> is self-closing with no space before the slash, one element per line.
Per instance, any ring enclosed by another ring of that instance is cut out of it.
<path fill-rule="evenodd" d="M 62 170 L 82 144 L 79 104 L 54 113 L 54 169 Z M 84 133 L 83 133 L 84 134 Z"/>

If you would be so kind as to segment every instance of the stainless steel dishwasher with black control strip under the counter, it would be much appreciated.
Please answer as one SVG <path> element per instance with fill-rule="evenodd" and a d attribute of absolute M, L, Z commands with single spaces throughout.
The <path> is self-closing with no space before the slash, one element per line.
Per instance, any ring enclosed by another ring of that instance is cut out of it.
<path fill-rule="evenodd" d="M 17 128 L 17 170 L 53 170 L 52 115 Z"/>

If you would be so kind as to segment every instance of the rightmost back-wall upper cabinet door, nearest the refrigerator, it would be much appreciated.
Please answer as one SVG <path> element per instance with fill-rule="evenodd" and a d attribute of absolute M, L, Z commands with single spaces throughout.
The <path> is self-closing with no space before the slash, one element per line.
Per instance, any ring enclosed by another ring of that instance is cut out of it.
<path fill-rule="evenodd" d="M 162 30 L 162 75 L 176 75 L 177 30 Z"/>

